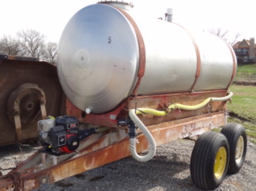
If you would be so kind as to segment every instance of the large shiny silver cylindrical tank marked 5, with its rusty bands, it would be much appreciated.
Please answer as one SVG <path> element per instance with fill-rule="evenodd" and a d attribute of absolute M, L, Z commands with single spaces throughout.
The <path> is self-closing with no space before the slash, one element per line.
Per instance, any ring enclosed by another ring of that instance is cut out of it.
<path fill-rule="evenodd" d="M 226 89 L 236 73 L 236 57 L 215 35 L 95 4 L 67 23 L 57 68 L 69 100 L 101 114 L 134 94 Z"/>

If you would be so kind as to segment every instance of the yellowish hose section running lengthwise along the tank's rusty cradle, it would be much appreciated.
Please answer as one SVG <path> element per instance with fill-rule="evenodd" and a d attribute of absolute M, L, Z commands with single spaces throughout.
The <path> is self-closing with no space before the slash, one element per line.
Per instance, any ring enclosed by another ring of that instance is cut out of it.
<path fill-rule="evenodd" d="M 180 103 L 175 103 L 175 104 L 169 105 L 168 108 L 171 109 L 171 110 L 175 110 L 175 109 L 196 110 L 196 109 L 199 109 L 199 108 L 202 108 L 202 107 L 206 106 L 209 102 L 227 101 L 232 96 L 233 96 L 233 93 L 228 91 L 228 96 L 225 96 L 225 97 L 209 97 L 209 98 L 205 99 L 204 101 L 202 101 L 201 103 L 199 103 L 197 105 L 189 106 L 189 105 L 183 105 L 183 104 L 180 104 Z M 137 108 L 136 109 L 136 114 L 137 115 L 138 114 L 151 114 L 151 115 L 155 115 L 155 116 L 164 116 L 164 115 L 167 115 L 168 112 L 159 111 L 159 110 L 151 109 L 151 108 Z"/>

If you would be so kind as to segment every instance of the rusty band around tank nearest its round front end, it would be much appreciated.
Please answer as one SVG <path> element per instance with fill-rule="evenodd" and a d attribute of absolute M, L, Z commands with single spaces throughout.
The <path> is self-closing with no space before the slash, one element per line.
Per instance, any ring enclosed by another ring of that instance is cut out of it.
<path fill-rule="evenodd" d="M 121 8 L 115 7 L 117 10 L 119 10 L 121 13 L 124 14 L 124 16 L 130 21 L 131 25 L 133 26 L 137 39 L 138 39 L 138 45 L 139 45 L 139 71 L 138 71 L 138 81 L 136 83 L 135 89 L 133 90 L 133 94 L 137 96 L 137 90 L 140 86 L 141 83 L 141 78 L 144 76 L 145 72 L 145 66 L 146 66 L 146 51 L 145 51 L 145 45 L 144 45 L 144 40 L 141 35 L 141 31 L 137 24 L 135 23 L 134 19 L 126 13 L 124 10 Z"/>

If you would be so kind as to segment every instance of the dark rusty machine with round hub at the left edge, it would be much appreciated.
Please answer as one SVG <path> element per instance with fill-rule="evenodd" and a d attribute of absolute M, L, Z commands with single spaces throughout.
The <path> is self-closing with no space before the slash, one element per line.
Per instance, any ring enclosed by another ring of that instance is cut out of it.
<path fill-rule="evenodd" d="M 65 112 L 56 67 L 25 60 L 0 63 L 0 146 L 38 137 L 38 120 Z"/>

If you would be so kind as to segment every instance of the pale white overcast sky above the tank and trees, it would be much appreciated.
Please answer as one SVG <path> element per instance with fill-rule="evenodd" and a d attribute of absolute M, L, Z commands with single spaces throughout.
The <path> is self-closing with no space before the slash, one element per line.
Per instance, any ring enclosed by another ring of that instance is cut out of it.
<path fill-rule="evenodd" d="M 99 0 L 1 0 L 0 38 L 12 37 L 21 30 L 33 29 L 46 36 L 47 41 L 59 42 L 68 20 L 81 8 Z M 198 30 L 221 28 L 228 30 L 232 41 L 236 33 L 243 38 L 256 37 L 254 15 L 256 0 L 124 0 L 134 4 L 134 11 L 148 19 L 164 17 L 173 9 L 173 22 Z"/>

